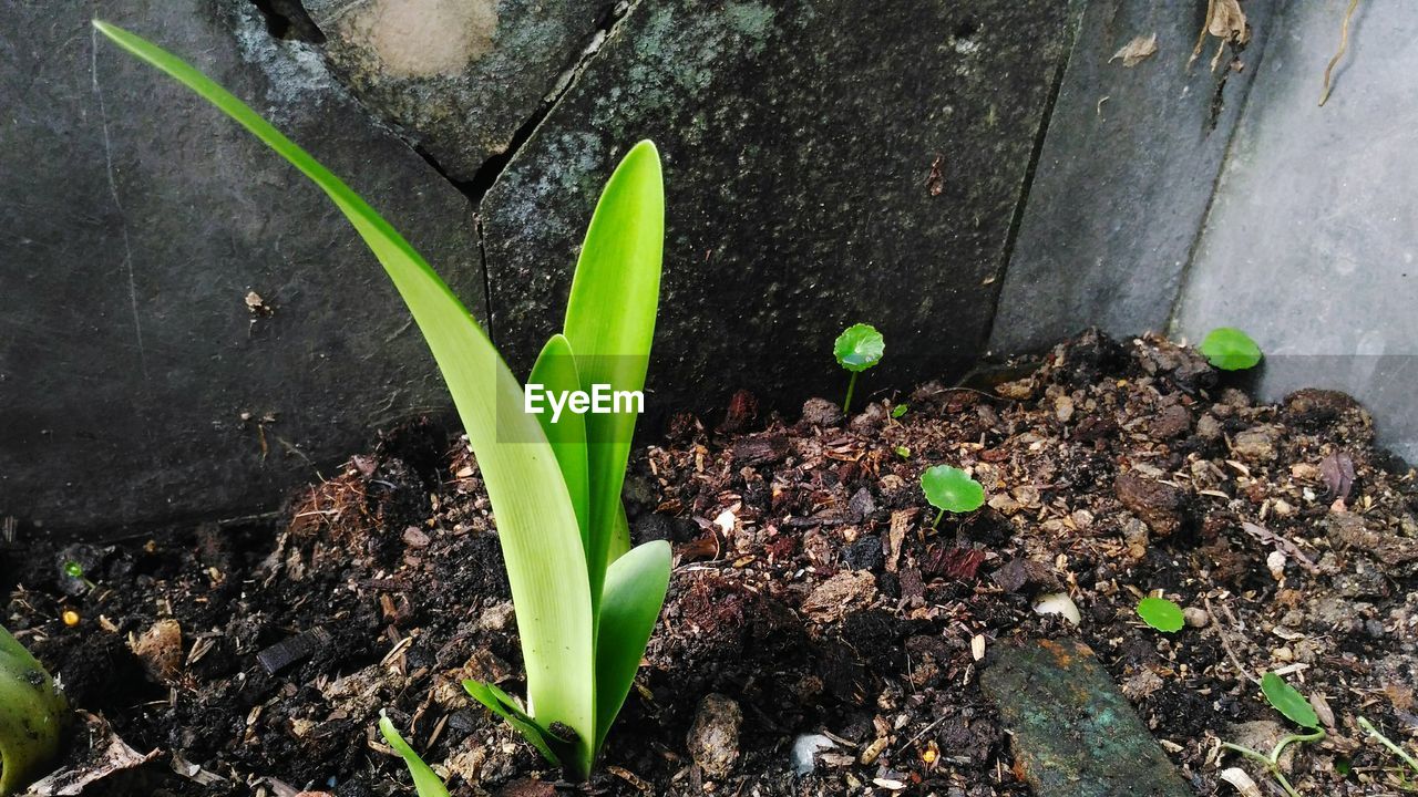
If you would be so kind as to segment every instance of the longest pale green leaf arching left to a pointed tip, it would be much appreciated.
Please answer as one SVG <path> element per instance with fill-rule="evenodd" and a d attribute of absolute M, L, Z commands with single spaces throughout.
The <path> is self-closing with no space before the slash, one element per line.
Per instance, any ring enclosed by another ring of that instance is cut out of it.
<path fill-rule="evenodd" d="M 468 431 L 492 501 L 537 722 L 563 723 L 590 759 L 594 733 L 591 593 L 576 511 L 522 386 L 482 328 L 417 251 L 349 186 L 251 108 L 176 55 L 122 28 L 94 27 L 197 92 L 315 182 L 383 264 L 424 333 Z M 498 411 L 502 407 L 503 411 Z"/>

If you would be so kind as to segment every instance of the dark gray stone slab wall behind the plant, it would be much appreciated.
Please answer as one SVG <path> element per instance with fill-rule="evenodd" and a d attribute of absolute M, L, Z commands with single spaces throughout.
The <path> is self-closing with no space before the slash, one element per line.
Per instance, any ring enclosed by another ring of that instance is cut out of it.
<path fill-rule="evenodd" d="M 600 184 L 652 138 L 652 407 L 835 396 L 831 340 L 855 321 L 888 342 L 868 393 L 1090 323 L 1232 323 L 1271 353 L 1265 390 L 1347 389 L 1418 455 L 1418 13 L 1366 0 L 1319 109 L 1344 4 L 1246 0 L 1251 40 L 1215 72 L 1215 40 L 1187 67 L 1204 3 L 3 4 L 0 516 L 98 533 L 267 511 L 374 430 L 448 408 L 337 211 L 95 48 L 94 14 L 347 177 L 491 308 L 518 370 L 560 325 Z M 1112 58 L 1151 33 L 1150 58 Z"/>

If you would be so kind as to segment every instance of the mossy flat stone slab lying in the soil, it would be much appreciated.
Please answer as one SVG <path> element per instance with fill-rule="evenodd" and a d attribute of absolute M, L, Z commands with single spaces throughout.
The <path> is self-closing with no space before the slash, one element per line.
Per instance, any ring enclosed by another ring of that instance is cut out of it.
<path fill-rule="evenodd" d="M 1075 640 L 1000 647 L 980 685 L 1038 797 L 1193 797 L 1093 651 Z"/>

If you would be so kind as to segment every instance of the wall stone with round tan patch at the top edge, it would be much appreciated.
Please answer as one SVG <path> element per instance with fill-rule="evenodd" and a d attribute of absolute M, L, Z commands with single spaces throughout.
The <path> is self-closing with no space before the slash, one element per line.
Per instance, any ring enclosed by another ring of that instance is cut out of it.
<path fill-rule="evenodd" d="M 611 3 L 305 0 L 360 101 L 455 180 L 508 149 L 594 41 Z M 567 75 L 569 77 L 569 75 Z"/>

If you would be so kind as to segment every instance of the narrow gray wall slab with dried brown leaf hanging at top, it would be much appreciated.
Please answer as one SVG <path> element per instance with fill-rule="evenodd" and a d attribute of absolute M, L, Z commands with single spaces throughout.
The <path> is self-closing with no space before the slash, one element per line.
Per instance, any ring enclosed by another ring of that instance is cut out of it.
<path fill-rule="evenodd" d="M 1212 72 L 1187 67 L 1205 3 L 1092 0 L 1049 121 L 990 347 L 1052 345 L 1085 326 L 1163 329 L 1227 143 L 1263 68 L 1273 0 L 1248 0 L 1252 38 Z M 1157 34 L 1134 67 L 1113 55 Z M 1333 37 L 1329 37 L 1333 38 Z M 1326 45 L 1330 45 L 1326 41 Z"/>

